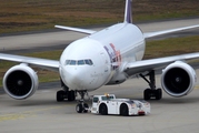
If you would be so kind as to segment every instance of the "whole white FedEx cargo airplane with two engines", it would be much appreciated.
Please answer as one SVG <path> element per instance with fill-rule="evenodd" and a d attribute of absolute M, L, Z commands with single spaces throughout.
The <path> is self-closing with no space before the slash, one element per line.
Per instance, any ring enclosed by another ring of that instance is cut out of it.
<path fill-rule="evenodd" d="M 88 92 L 102 85 L 120 84 L 132 75 L 139 75 L 149 83 L 149 89 L 143 92 L 145 100 L 162 99 L 162 90 L 156 88 L 155 78 L 155 71 L 160 69 L 162 89 L 171 96 L 187 95 L 196 85 L 195 69 L 187 61 L 199 58 L 199 52 L 149 60 L 142 58 L 146 39 L 199 28 L 199 24 L 143 33 L 132 23 L 131 0 L 126 0 L 123 22 L 101 31 L 54 27 L 88 37 L 71 42 L 59 61 L 0 53 L 0 60 L 19 63 L 3 76 L 3 90 L 9 96 L 23 100 L 37 91 L 38 75 L 30 65 L 58 72 L 62 90 L 57 92 L 57 101 L 74 101 L 79 93 L 81 99 L 77 106 L 82 111 L 87 106 L 83 100 Z"/>

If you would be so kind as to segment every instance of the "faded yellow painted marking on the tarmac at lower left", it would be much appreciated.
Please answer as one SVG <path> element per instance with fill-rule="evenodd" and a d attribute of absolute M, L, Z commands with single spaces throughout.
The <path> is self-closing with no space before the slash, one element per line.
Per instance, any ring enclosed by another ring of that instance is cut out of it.
<path fill-rule="evenodd" d="M 26 119 L 26 117 L 36 116 L 38 112 L 61 109 L 61 108 L 64 108 L 64 106 L 67 106 L 67 105 L 58 105 L 58 106 L 24 111 L 24 112 L 13 113 L 13 114 L 12 113 L 3 114 L 3 115 L 0 115 L 0 122 L 22 120 L 22 119 Z"/>

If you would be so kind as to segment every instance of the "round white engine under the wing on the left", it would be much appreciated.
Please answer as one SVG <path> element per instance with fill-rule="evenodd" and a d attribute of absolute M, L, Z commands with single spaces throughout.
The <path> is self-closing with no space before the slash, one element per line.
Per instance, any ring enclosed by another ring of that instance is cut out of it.
<path fill-rule="evenodd" d="M 3 89 L 13 99 L 22 100 L 31 96 L 38 89 L 37 73 L 27 64 L 14 65 L 3 76 Z"/>

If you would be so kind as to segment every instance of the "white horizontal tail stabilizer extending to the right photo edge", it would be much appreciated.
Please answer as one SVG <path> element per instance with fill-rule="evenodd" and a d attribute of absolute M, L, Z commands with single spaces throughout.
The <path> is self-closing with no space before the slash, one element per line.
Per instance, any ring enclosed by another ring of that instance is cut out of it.
<path fill-rule="evenodd" d="M 193 29 L 193 28 L 199 28 L 199 24 L 190 25 L 190 27 L 183 27 L 183 28 L 177 28 L 177 29 L 170 29 L 170 30 L 163 30 L 163 31 L 157 31 L 157 32 L 146 32 L 146 33 L 143 33 L 143 37 L 146 39 L 149 39 L 149 38 L 152 38 L 152 37 L 161 35 L 161 34 L 166 34 L 166 33 L 178 32 L 178 31 L 182 31 L 182 30 L 189 30 L 189 29 Z"/>

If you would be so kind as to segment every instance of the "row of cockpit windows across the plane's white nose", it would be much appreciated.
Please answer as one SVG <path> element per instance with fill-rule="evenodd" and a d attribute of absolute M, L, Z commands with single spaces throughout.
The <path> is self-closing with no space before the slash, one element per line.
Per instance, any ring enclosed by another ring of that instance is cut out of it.
<path fill-rule="evenodd" d="M 66 60 L 66 65 L 92 65 L 92 61 L 90 59 L 86 60 Z"/>

